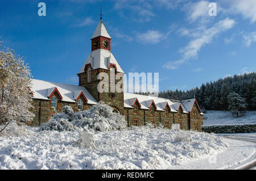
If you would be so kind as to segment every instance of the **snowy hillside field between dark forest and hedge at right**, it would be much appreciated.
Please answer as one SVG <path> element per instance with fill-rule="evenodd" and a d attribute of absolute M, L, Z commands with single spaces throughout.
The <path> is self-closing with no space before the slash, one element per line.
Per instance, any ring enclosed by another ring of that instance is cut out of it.
<path fill-rule="evenodd" d="M 256 111 L 247 111 L 242 116 L 232 116 L 229 111 L 207 111 L 204 115 L 204 125 L 212 124 L 256 124 Z"/>

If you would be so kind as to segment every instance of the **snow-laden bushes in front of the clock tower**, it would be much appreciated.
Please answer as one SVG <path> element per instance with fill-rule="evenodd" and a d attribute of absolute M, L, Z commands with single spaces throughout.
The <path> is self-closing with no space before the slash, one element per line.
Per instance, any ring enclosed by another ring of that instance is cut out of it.
<path fill-rule="evenodd" d="M 70 106 L 64 106 L 61 113 L 55 113 L 42 125 L 42 131 L 74 131 L 79 128 L 92 128 L 95 131 L 122 130 L 127 127 L 125 117 L 113 112 L 113 108 L 99 103 L 90 110 L 75 113 Z"/>

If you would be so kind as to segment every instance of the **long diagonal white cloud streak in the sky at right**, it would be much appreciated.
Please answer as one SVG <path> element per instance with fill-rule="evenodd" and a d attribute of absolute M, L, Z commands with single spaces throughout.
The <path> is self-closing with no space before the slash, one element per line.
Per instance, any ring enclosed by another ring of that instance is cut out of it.
<path fill-rule="evenodd" d="M 202 30 L 194 30 L 196 31 L 195 35 L 197 35 L 197 37 L 195 36 L 194 39 L 189 41 L 186 47 L 180 49 L 180 53 L 182 54 L 183 58 L 178 61 L 167 62 L 167 64 L 163 65 L 163 67 L 167 69 L 176 69 L 180 64 L 183 64 L 185 61 L 191 58 L 197 58 L 199 50 L 204 47 L 204 45 L 211 43 L 215 36 L 217 36 L 221 32 L 229 30 L 234 26 L 234 24 L 235 21 L 233 19 L 226 18 L 224 20 L 220 20 L 219 22 L 214 24 L 214 26 L 208 29 L 203 28 Z"/>

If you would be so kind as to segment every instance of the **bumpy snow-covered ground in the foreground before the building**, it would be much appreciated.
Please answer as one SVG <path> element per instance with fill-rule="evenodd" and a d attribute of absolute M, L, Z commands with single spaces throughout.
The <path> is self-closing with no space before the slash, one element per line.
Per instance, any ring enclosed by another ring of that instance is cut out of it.
<path fill-rule="evenodd" d="M 179 169 L 228 150 L 224 138 L 192 131 L 94 132 L 90 148 L 81 146 L 82 135 L 24 127 L 19 136 L 1 136 L 0 169 Z"/>

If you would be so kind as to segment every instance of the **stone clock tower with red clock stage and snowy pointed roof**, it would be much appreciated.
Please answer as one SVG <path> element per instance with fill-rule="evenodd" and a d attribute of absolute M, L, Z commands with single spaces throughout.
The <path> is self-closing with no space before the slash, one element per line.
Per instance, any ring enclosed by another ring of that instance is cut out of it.
<path fill-rule="evenodd" d="M 84 86 L 98 102 L 109 104 L 115 111 L 123 115 L 125 113 L 123 100 L 123 75 L 125 73 L 111 52 L 112 38 L 106 30 L 102 18 L 91 40 L 92 52 L 77 74 L 79 86 Z M 111 89 L 110 86 L 112 86 Z M 104 92 L 99 91 L 99 87 L 103 88 Z M 119 89 L 113 90 L 113 87 Z"/>

